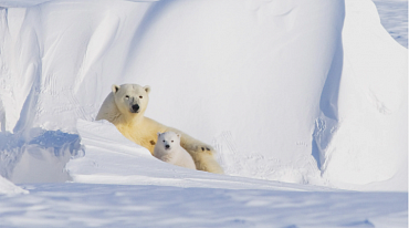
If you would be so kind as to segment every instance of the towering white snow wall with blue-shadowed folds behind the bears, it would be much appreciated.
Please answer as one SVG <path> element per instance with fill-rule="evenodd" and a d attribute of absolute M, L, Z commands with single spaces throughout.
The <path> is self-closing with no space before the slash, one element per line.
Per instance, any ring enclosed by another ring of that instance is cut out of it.
<path fill-rule="evenodd" d="M 137 83 L 146 115 L 212 144 L 228 175 L 407 190 L 407 50 L 369 0 L 0 7 L 0 175 L 14 183 L 65 182 L 44 176 L 70 157 L 86 178 L 77 120 Z"/>

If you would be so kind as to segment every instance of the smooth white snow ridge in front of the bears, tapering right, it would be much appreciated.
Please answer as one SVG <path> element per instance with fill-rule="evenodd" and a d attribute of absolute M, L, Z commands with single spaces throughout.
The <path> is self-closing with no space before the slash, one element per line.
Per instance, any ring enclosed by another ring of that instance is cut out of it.
<path fill-rule="evenodd" d="M 70 160 L 66 166 L 75 183 L 182 188 L 329 190 L 325 187 L 217 175 L 174 166 L 153 157 L 148 149 L 129 142 L 106 121 L 78 120 L 77 129 L 86 155 Z"/>

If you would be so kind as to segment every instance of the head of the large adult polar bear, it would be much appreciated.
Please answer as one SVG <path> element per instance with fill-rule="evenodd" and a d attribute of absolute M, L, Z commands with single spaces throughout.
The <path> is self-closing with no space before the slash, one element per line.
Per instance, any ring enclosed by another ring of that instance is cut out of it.
<path fill-rule="evenodd" d="M 113 85 L 116 106 L 123 114 L 144 113 L 149 102 L 150 87 L 138 84 Z"/>

